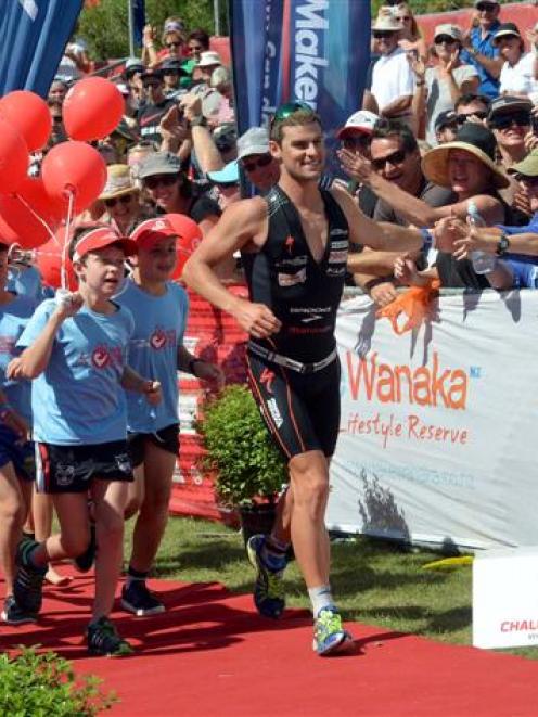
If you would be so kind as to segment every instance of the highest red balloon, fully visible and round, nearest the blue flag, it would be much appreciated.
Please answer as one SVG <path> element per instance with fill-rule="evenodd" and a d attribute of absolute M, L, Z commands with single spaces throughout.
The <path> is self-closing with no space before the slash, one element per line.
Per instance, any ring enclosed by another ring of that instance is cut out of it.
<path fill-rule="evenodd" d="M 87 77 L 65 95 L 64 127 L 74 140 L 89 142 L 110 135 L 125 113 L 125 101 L 114 82 L 104 77 Z"/>

